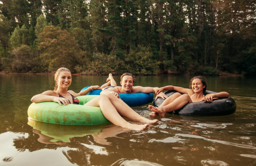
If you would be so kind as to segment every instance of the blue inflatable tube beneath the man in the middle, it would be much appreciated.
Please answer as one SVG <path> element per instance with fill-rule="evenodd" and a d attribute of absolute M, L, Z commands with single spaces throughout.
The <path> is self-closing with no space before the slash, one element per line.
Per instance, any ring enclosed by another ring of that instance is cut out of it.
<path fill-rule="evenodd" d="M 84 87 L 81 91 L 87 89 L 88 87 Z M 80 92 L 81 92 L 80 91 Z M 100 95 L 102 90 L 95 89 L 89 92 L 87 95 Z M 130 94 L 119 94 L 120 99 L 122 99 L 127 105 L 130 107 L 137 107 L 141 105 L 145 105 L 153 102 L 154 95 L 153 93 L 130 93 Z"/>

